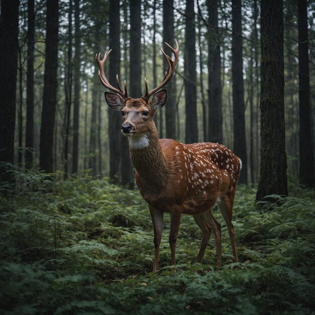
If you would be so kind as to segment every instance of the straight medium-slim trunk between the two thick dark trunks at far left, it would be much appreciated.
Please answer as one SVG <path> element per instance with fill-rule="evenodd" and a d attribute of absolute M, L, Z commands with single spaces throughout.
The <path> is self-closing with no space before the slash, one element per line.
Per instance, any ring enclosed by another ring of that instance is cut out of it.
<path fill-rule="evenodd" d="M 25 166 L 27 169 L 31 169 L 34 156 L 34 0 L 28 0 L 27 32 Z"/>

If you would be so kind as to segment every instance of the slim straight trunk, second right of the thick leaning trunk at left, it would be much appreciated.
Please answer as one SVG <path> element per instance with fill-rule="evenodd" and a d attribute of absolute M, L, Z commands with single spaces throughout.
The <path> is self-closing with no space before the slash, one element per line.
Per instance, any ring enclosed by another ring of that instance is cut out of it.
<path fill-rule="evenodd" d="M 73 58 L 73 143 L 72 143 L 72 173 L 78 171 L 78 141 L 80 119 L 80 91 L 81 91 L 81 34 L 80 34 L 80 1 L 74 0 L 74 58 Z"/>

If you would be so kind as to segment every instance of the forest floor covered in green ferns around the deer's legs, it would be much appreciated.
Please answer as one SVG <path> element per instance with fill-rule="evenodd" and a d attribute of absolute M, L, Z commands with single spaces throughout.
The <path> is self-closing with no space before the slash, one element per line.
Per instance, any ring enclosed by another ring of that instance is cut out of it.
<path fill-rule="evenodd" d="M 315 192 L 294 181 L 290 197 L 256 206 L 256 190 L 238 188 L 239 263 L 214 209 L 222 223 L 219 269 L 213 235 L 204 264 L 196 263 L 201 232 L 184 215 L 174 271 L 166 215 L 160 271 L 152 273 L 153 229 L 137 190 L 88 175 L 16 176 L 15 196 L 0 199 L 0 313 L 315 313 Z"/>

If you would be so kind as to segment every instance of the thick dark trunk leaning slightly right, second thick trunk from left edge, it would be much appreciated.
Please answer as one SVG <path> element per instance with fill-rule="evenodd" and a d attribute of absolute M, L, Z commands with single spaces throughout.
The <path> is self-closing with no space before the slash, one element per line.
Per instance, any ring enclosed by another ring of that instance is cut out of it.
<path fill-rule="evenodd" d="M 47 0 L 43 108 L 40 128 L 39 167 L 53 172 L 53 141 L 57 102 L 58 1 Z"/>

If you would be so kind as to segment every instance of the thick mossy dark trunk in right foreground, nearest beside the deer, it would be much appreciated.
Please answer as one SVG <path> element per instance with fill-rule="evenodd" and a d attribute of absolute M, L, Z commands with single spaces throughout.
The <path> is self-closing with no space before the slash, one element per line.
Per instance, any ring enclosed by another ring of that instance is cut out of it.
<path fill-rule="evenodd" d="M 283 1 L 261 2 L 261 167 L 256 200 L 287 195 Z"/>

